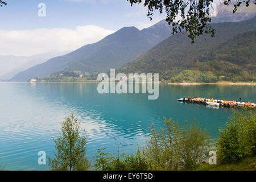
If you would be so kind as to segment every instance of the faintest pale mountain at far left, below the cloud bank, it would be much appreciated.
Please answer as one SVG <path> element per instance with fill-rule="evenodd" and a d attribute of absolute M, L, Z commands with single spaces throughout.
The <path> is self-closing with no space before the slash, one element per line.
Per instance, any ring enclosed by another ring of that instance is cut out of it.
<path fill-rule="evenodd" d="M 0 80 L 9 80 L 19 72 L 34 67 L 34 65 L 44 63 L 48 59 L 64 53 L 67 52 L 50 51 L 32 56 L 0 55 Z"/>

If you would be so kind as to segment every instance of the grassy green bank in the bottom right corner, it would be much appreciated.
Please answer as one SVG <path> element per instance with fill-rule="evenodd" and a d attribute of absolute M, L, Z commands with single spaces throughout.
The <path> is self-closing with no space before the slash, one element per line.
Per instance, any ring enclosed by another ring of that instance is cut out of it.
<path fill-rule="evenodd" d="M 256 171 L 256 156 L 248 157 L 239 162 L 222 164 L 222 165 L 210 165 L 203 164 L 197 171 Z"/>

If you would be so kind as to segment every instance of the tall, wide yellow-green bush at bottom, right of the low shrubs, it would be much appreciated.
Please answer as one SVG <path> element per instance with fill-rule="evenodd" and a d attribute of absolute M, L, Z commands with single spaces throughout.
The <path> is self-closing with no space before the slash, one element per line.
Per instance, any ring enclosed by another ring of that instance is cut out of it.
<path fill-rule="evenodd" d="M 151 129 L 150 142 L 145 148 L 148 166 L 152 170 L 195 169 L 202 163 L 209 147 L 207 130 L 192 121 L 180 127 L 174 119 L 164 118 L 166 129 Z"/>

